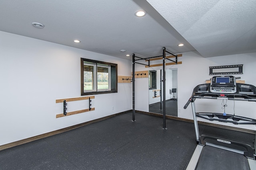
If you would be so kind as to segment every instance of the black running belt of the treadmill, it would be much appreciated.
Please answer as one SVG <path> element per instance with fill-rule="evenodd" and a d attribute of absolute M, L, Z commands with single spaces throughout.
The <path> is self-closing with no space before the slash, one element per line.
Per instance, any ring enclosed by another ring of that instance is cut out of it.
<path fill-rule="evenodd" d="M 204 146 L 196 170 L 250 170 L 243 154 Z"/>

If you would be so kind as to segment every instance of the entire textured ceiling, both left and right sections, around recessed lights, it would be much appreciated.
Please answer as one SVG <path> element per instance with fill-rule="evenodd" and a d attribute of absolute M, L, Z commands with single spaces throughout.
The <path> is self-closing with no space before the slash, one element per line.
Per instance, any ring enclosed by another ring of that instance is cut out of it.
<path fill-rule="evenodd" d="M 124 59 L 162 55 L 162 47 L 211 57 L 256 52 L 255 8 L 249 0 L 1 0 L 0 31 Z M 147 15 L 134 16 L 141 9 Z"/>

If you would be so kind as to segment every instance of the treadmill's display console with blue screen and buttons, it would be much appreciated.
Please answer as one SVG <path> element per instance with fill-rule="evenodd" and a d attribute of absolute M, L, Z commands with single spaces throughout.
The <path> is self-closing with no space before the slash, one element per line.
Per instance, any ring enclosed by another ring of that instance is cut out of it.
<path fill-rule="evenodd" d="M 214 76 L 211 80 L 210 92 L 236 93 L 236 78 L 234 76 Z"/>

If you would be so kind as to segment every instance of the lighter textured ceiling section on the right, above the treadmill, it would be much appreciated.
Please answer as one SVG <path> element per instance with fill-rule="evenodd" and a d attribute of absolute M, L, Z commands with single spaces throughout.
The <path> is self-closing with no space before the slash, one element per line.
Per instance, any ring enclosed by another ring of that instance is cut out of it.
<path fill-rule="evenodd" d="M 147 0 L 203 57 L 256 52 L 255 0 Z"/>

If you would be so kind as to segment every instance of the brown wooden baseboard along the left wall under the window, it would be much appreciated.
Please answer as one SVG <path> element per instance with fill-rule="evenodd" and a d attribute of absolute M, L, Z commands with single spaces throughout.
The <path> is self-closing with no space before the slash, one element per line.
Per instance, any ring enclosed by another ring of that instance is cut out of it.
<path fill-rule="evenodd" d="M 105 119 L 109 119 L 109 118 L 111 118 L 111 117 L 115 117 L 116 115 L 120 115 L 120 114 L 123 114 L 123 113 L 128 113 L 128 112 L 131 112 L 131 111 L 132 111 L 132 110 L 123 111 L 123 112 L 120 112 L 120 113 L 116 113 L 116 114 L 114 114 L 114 115 L 109 115 L 109 116 L 102 117 L 102 118 L 99 118 L 99 119 L 95 119 L 95 120 L 92 120 L 92 121 L 80 123 L 80 124 L 78 124 L 78 125 L 73 125 L 73 126 L 70 126 L 70 127 L 66 127 L 66 128 L 63 128 L 63 129 L 56 130 L 56 131 L 44 133 L 44 134 L 42 134 L 42 135 L 37 135 L 37 136 L 30 137 L 30 138 L 27 138 L 27 139 L 22 139 L 22 140 L 20 140 L 20 141 L 16 141 L 16 142 L 8 143 L 8 144 L 5 144 L 5 145 L 1 145 L 1 146 L 0 146 L 0 150 L 8 149 L 8 148 L 11 148 L 11 147 L 15 147 L 15 146 L 18 146 L 18 145 L 22 145 L 22 144 L 24 144 L 24 143 L 29 143 L 29 142 L 32 142 L 32 141 L 36 141 L 36 140 L 38 140 L 38 139 L 42 139 L 42 138 L 45 138 L 45 137 L 49 137 L 49 136 L 52 136 L 52 135 L 56 135 L 56 134 L 59 134 L 59 133 L 63 133 L 63 132 L 66 132 L 66 131 L 70 131 L 70 130 L 76 129 L 76 128 L 78 128 L 78 127 L 83 127 L 83 126 L 85 126 L 85 125 L 89 125 L 89 124 L 91 124 L 91 123 L 95 123 L 95 122 L 98 122 L 98 121 L 102 121 L 102 120 L 105 120 Z"/>

